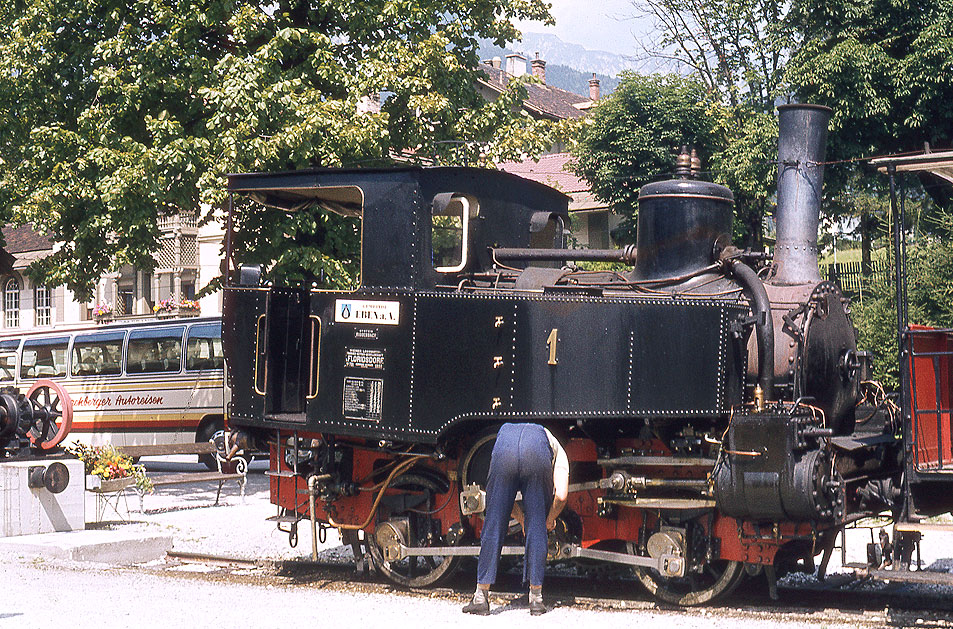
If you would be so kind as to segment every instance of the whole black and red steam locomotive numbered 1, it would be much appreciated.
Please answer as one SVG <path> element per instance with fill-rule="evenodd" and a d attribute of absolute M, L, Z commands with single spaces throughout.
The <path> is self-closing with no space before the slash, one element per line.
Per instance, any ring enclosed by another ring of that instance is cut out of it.
<path fill-rule="evenodd" d="M 830 114 L 779 108 L 773 259 L 732 246 L 732 192 L 687 155 L 641 189 L 620 250 L 568 249 L 568 198 L 504 172 L 230 176 L 235 212 L 362 229 L 353 291 L 270 285 L 227 256 L 227 418 L 235 447 L 270 452 L 278 526 L 337 528 L 393 582 L 434 584 L 478 552 L 512 421 L 569 455 L 550 558 L 624 566 L 670 603 L 745 575 L 773 588 L 826 564 L 846 524 L 898 513 L 902 430 L 864 403 L 870 356 L 818 273 Z"/>

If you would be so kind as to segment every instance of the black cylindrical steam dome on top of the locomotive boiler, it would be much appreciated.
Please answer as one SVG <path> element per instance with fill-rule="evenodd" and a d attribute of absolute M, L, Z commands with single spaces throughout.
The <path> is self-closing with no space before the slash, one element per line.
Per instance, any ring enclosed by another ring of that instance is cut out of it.
<path fill-rule="evenodd" d="M 709 266 L 731 242 L 731 190 L 694 179 L 642 186 L 634 278 L 678 277 Z"/>

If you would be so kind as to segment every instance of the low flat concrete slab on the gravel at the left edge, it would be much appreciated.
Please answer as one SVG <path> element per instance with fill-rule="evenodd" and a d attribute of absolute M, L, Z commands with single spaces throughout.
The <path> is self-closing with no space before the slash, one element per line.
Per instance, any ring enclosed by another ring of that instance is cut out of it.
<path fill-rule="evenodd" d="M 122 530 L 68 531 L 0 539 L 0 556 L 134 564 L 154 561 L 172 548 L 171 535 Z"/>

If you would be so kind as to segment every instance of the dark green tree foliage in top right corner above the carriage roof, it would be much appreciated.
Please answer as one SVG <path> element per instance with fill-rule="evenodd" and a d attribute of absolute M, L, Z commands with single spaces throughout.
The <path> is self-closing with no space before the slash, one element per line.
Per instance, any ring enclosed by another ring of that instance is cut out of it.
<path fill-rule="evenodd" d="M 953 1 L 797 0 L 788 79 L 834 109 L 829 156 L 953 142 Z"/>

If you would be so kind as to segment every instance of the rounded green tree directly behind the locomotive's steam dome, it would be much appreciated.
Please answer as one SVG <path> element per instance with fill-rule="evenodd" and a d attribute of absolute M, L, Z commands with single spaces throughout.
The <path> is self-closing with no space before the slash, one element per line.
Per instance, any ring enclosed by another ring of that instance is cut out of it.
<path fill-rule="evenodd" d="M 634 242 L 639 189 L 671 176 L 683 145 L 697 150 L 704 174 L 734 192 L 736 242 L 760 246 L 777 174 L 777 123 L 771 114 L 729 109 L 702 82 L 675 75 L 624 74 L 574 149 L 576 172 L 622 215 L 613 237 Z"/>

